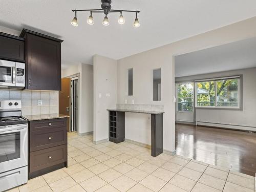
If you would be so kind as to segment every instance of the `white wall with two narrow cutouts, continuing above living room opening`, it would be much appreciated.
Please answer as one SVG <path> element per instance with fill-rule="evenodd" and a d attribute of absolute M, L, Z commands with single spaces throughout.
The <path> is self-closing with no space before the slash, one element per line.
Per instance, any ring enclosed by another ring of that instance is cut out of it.
<path fill-rule="evenodd" d="M 131 98 L 135 103 L 155 104 L 152 100 L 152 70 L 161 68 L 162 101 L 164 113 L 164 149 L 175 151 L 175 74 L 174 56 L 198 51 L 209 47 L 227 44 L 237 40 L 256 36 L 256 17 L 209 31 L 172 44 L 132 55 L 117 61 L 117 101 L 124 103 Z M 127 96 L 127 69 L 134 68 L 134 96 Z M 131 127 L 125 127 L 130 130 Z M 146 129 L 145 127 L 143 129 Z M 134 133 L 136 134 L 136 133 Z"/>

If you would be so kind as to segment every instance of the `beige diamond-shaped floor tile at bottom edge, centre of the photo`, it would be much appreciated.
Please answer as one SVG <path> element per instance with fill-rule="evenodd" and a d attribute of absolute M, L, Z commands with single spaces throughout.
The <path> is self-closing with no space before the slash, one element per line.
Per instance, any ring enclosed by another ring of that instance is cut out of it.
<path fill-rule="evenodd" d="M 123 175 L 117 178 L 116 180 L 112 181 L 110 184 L 114 186 L 116 189 L 123 192 L 132 188 L 134 185 L 137 184 L 137 182 Z"/>

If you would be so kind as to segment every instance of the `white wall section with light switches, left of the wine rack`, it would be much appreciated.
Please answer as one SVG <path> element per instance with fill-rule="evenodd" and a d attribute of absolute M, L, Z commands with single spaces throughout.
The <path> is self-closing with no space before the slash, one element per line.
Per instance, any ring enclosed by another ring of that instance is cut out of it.
<path fill-rule="evenodd" d="M 93 57 L 94 78 L 94 125 L 93 140 L 109 138 L 109 115 L 106 109 L 116 108 L 117 61 L 95 55 Z M 101 98 L 99 98 L 101 94 Z M 110 94 L 110 97 L 106 96 Z"/>

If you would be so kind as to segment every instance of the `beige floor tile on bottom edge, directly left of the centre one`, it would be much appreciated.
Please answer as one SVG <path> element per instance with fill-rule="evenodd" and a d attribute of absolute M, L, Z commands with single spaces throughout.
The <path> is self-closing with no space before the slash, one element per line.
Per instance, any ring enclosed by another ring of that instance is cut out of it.
<path fill-rule="evenodd" d="M 106 184 L 107 183 L 103 179 L 99 178 L 98 176 L 94 176 L 80 183 L 82 188 L 84 188 L 87 192 L 95 191 Z"/>

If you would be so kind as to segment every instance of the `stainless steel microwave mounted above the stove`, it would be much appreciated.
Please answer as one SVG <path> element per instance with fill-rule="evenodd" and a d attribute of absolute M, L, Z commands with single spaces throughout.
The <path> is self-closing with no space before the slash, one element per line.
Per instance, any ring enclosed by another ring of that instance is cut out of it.
<path fill-rule="evenodd" d="M 25 63 L 0 60 L 0 88 L 23 89 Z"/>

